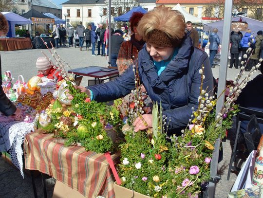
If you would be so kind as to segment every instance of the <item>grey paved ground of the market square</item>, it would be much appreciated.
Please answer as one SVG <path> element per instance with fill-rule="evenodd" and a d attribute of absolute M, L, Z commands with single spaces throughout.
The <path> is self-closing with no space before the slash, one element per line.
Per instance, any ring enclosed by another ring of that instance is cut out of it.
<path fill-rule="evenodd" d="M 83 48 L 85 49 L 85 48 Z M 2 72 L 11 71 L 14 81 L 17 80 L 19 74 L 22 74 L 25 81 L 28 81 L 32 76 L 37 74 L 37 69 L 35 67 L 36 60 L 39 56 L 43 56 L 41 51 L 49 55 L 48 50 L 20 50 L 11 52 L 0 52 L 2 61 Z M 92 56 L 91 51 L 79 51 L 79 48 L 59 48 L 56 52 L 61 56 L 61 58 L 66 61 L 71 68 L 78 67 L 88 67 L 88 66 L 102 66 L 106 67 L 108 65 L 107 57 L 102 56 Z M 49 55 L 50 56 L 50 55 Z M 218 77 L 219 66 L 212 68 L 213 75 L 215 78 Z M 228 69 L 227 79 L 234 79 L 239 70 Z M 246 72 L 247 73 L 247 72 Z M 252 78 L 258 75 L 259 72 L 253 74 Z M 84 77 L 81 85 L 88 85 L 88 77 Z M 234 131 L 230 131 L 230 139 L 233 137 Z M 219 173 L 222 179 L 217 183 L 215 198 L 226 198 L 228 192 L 230 191 L 234 181 L 236 180 L 236 175 L 231 173 L 230 180 L 226 180 L 228 164 L 231 156 L 231 145 L 230 140 L 227 139 L 223 142 L 224 158 L 223 161 L 219 163 Z M 36 185 L 38 191 L 38 197 L 43 197 L 41 177 L 36 178 Z M 0 157 L 0 198 L 34 198 L 33 188 L 31 183 L 31 177 L 25 174 L 25 178 L 22 179 L 19 170 L 10 165 Z M 54 185 L 47 180 L 48 198 L 52 198 Z"/>

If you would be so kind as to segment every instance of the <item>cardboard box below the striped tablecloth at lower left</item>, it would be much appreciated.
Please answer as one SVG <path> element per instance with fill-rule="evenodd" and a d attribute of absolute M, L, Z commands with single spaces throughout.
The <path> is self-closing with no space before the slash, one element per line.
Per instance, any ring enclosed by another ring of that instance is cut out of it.
<path fill-rule="evenodd" d="M 52 198 L 85 198 L 75 189 L 72 189 L 68 185 L 56 180 L 56 185 L 53 192 Z"/>

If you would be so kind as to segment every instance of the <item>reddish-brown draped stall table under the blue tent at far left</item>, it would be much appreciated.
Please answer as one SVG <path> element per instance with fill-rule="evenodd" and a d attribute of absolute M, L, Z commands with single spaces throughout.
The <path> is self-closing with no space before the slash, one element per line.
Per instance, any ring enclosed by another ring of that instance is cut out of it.
<path fill-rule="evenodd" d="M 0 38 L 0 50 L 13 51 L 22 49 L 32 49 L 30 38 Z"/>

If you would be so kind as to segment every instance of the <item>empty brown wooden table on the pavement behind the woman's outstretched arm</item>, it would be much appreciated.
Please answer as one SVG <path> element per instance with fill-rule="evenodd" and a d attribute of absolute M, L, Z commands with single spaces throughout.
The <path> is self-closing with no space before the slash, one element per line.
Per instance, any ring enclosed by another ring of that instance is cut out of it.
<path fill-rule="evenodd" d="M 68 73 L 74 73 L 76 76 L 82 75 L 82 76 L 93 77 L 95 80 L 95 84 L 96 84 L 96 80 L 98 80 L 98 83 L 100 84 L 102 80 L 107 80 L 119 76 L 119 72 L 117 68 L 113 69 L 113 68 L 105 68 L 98 66 L 76 68 L 73 70 L 69 70 Z"/>

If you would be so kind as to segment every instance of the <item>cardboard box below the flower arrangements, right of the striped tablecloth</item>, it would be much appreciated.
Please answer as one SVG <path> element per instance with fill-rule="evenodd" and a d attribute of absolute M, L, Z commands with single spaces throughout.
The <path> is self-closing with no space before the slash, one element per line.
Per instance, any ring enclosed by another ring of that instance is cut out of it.
<path fill-rule="evenodd" d="M 113 184 L 113 189 L 115 192 L 115 198 L 150 198 L 146 195 L 142 195 L 128 188 L 119 186 L 118 184 Z"/>

